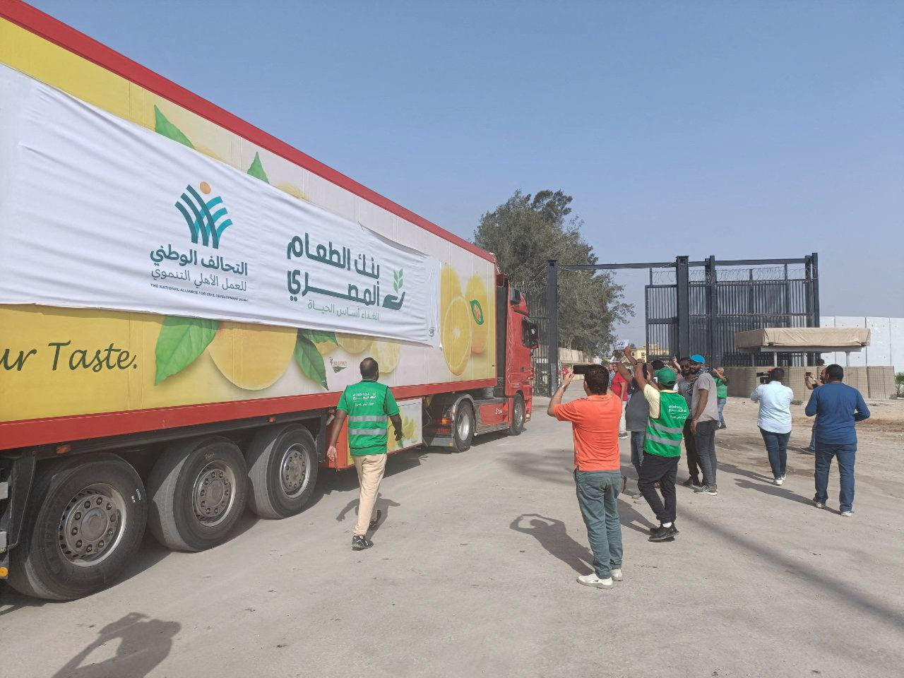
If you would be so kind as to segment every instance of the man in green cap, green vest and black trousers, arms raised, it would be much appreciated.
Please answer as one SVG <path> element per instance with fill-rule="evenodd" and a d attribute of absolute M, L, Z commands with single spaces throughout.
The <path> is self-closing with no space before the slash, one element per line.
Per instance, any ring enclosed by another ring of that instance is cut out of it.
<path fill-rule="evenodd" d="M 667 367 L 656 370 L 654 383 L 650 383 L 646 380 L 644 364 L 635 360 L 631 347 L 626 348 L 625 355 L 634 367 L 634 378 L 650 405 L 650 415 L 646 421 L 644 461 L 637 481 L 638 489 L 659 520 L 659 527 L 652 530 L 650 541 L 674 541 L 678 534 L 675 527 L 675 476 L 678 473 L 678 460 L 681 458 L 684 422 L 690 412 L 684 396 L 675 391 L 677 375 L 673 370 Z M 618 363 L 617 368 L 622 376 L 630 378 L 630 372 L 623 363 Z M 665 504 L 656 492 L 657 483 Z"/>

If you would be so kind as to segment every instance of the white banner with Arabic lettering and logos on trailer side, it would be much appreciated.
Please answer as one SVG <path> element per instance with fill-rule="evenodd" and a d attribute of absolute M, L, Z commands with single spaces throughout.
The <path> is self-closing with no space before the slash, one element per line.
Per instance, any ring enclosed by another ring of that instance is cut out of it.
<path fill-rule="evenodd" d="M 437 346 L 439 262 L 0 66 L 0 303 Z"/>

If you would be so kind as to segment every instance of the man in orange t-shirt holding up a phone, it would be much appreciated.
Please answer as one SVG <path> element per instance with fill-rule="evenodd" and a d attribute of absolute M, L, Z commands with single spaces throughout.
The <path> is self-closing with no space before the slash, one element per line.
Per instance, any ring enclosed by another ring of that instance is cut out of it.
<path fill-rule="evenodd" d="M 587 398 L 561 404 L 574 375 L 570 374 L 552 396 L 546 413 L 570 421 L 574 435 L 574 482 L 580 513 L 587 525 L 593 551 L 593 573 L 581 575 L 579 583 L 598 589 L 622 579 L 621 523 L 618 492 L 621 462 L 618 454 L 618 422 L 622 403 L 608 392 L 609 372 L 602 365 L 589 365 L 584 375 Z"/>

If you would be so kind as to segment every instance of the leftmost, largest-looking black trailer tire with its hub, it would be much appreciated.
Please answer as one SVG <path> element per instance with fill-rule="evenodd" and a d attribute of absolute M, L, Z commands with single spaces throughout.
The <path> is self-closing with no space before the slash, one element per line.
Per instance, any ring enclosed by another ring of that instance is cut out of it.
<path fill-rule="evenodd" d="M 10 554 L 9 583 L 27 596 L 73 600 L 125 569 L 145 534 L 147 496 L 120 457 L 75 457 L 37 477 L 28 515 Z"/>

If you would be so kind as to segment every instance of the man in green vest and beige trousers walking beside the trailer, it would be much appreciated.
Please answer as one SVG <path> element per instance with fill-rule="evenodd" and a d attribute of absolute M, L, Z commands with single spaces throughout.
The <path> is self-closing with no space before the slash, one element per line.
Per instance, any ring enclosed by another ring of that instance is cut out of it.
<path fill-rule="evenodd" d="M 326 450 L 326 457 L 334 461 L 336 441 L 347 417 L 348 447 L 361 485 L 358 521 L 352 535 L 353 551 L 363 551 L 373 546 L 373 542 L 367 538 L 367 532 L 380 522 L 381 512 L 376 505 L 377 492 L 386 470 L 386 434 L 390 420 L 396 440 L 402 437 L 399 405 L 392 397 L 390 387 L 377 381 L 380 379 L 380 365 L 373 358 L 364 358 L 361 362 L 361 377 L 361 381 L 345 389 L 339 398 L 330 444 Z"/>

